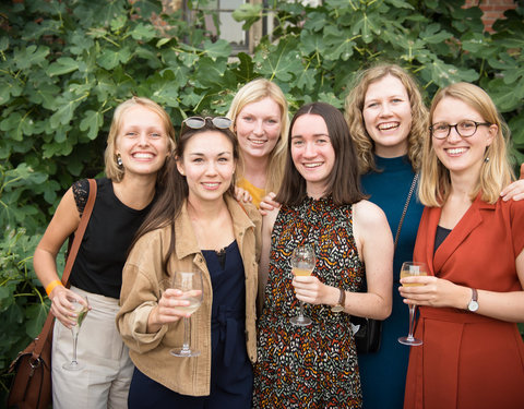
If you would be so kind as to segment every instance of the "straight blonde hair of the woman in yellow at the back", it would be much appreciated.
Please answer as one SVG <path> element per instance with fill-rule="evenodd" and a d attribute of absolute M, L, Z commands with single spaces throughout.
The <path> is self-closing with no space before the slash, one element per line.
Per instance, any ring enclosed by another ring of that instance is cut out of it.
<path fill-rule="evenodd" d="M 234 129 L 236 128 L 239 112 L 249 104 L 257 103 L 263 98 L 270 97 L 281 108 L 281 136 L 273 152 L 270 154 L 270 160 L 266 169 L 266 192 L 277 192 L 284 177 L 284 166 L 286 164 L 286 147 L 289 132 L 289 111 L 287 99 L 281 87 L 275 83 L 265 80 L 253 80 L 243 85 L 233 99 L 227 117 L 231 119 Z M 240 149 L 240 160 L 237 167 L 238 177 L 243 176 L 243 155 Z"/>

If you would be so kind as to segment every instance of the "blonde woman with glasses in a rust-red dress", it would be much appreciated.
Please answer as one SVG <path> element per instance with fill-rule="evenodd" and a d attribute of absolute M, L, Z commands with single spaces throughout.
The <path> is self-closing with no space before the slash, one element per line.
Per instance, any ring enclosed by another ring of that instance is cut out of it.
<path fill-rule="evenodd" d="M 404 408 L 522 408 L 524 203 L 500 199 L 513 178 L 507 127 L 476 85 L 434 96 L 419 197 L 425 208 L 414 258 L 427 277 L 402 279 L 419 305 Z"/>

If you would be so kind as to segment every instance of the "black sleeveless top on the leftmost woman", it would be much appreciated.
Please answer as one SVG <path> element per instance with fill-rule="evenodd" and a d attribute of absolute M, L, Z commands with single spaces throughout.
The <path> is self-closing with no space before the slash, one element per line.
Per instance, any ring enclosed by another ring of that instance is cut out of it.
<path fill-rule="evenodd" d="M 97 179 L 96 184 L 95 206 L 70 282 L 85 291 L 118 299 L 129 245 L 155 200 L 142 210 L 135 210 L 118 200 L 111 180 Z M 76 207 L 82 214 L 90 192 L 88 181 L 80 180 L 72 188 Z"/>

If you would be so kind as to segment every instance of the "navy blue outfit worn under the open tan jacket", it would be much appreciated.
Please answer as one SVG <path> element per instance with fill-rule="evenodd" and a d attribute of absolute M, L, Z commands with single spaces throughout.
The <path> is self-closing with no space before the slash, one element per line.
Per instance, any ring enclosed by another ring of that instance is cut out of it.
<path fill-rule="evenodd" d="M 253 370 L 246 349 L 246 277 L 242 257 L 236 241 L 219 253 L 202 250 L 202 255 L 213 287 L 211 394 L 180 395 L 135 369 L 131 390 L 136 393 L 129 396 L 130 408 L 251 408 Z"/>

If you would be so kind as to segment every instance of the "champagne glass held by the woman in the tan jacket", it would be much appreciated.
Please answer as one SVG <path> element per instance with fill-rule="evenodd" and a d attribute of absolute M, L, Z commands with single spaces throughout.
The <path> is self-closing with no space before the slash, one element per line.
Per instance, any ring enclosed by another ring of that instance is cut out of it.
<path fill-rule="evenodd" d="M 189 305 L 177 306 L 177 310 L 193 313 L 202 304 L 204 287 L 201 272 L 175 272 L 172 288 L 183 292 L 181 300 L 189 301 Z M 198 357 L 200 351 L 191 349 L 191 317 L 183 317 L 183 345 L 182 348 L 171 349 L 175 357 Z"/>

